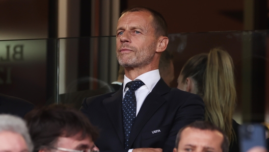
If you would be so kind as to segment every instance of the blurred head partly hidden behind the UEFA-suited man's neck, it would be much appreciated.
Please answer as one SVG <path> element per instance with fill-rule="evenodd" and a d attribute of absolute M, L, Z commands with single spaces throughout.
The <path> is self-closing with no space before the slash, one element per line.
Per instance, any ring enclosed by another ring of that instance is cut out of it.
<path fill-rule="evenodd" d="M 160 56 L 159 61 L 160 78 L 170 87 L 170 83 L 174 80 L 173 55 L 165 50 Z"/>

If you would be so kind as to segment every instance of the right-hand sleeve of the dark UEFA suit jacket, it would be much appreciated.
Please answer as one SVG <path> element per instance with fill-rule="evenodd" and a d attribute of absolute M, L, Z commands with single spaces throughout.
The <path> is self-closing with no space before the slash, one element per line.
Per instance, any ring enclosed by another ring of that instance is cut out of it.
<path fill-rule="evenodd" d="M 188 125 L 196 120 L 204 119 L 204 102 L 195 94 L 189 98 L 177 110 L 174 123 L 166 140 L 163 152 L 173 151 L 178 131 L 183 126 Z"/>

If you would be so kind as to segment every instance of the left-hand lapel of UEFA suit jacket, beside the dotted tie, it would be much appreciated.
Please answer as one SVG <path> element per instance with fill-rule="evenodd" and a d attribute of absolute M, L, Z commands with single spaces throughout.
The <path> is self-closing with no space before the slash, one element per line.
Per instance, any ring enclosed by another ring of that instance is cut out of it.
<path fill-rule="evenodd" d="M 121 85 L 120 90 L 116 93 L 112 94 L 111 97 L 103 100 L 103 105 L 106 109 L 107 115 L 111 119 L 111 122 L 114 126 L 114 129 L 119 136 L 122 145 L 124 146 L 124 132 L 123 132 L 123 122 L 122 122 L 122 89 L 123 85 Z"/>

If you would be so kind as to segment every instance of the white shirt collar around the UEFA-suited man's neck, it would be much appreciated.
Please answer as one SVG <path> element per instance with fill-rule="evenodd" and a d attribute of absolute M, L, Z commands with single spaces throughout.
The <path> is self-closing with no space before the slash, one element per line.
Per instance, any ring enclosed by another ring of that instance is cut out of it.
<path fill-rule="evenodd" d="M 152 70 L 152 71 L 148 71 L 146 73 L 143 73 L 141 75 L 139 75 L 136 79 L 134 79 L 134 81 L 138 81 L 141 80 L 149 89 L 149 92 L 152 91 L 152 89 L 155 87 L 155 85 L 157 84 L 157 82 L 160 80 L 160 75 L 159 75 L 159 70 Z M 124 75 L 124 81 L 123 81 L 123 92 L 125 89 L 125 85 L 130 82 L 131 80 L 129 78 L 126 77 L 126 75 Z"/>

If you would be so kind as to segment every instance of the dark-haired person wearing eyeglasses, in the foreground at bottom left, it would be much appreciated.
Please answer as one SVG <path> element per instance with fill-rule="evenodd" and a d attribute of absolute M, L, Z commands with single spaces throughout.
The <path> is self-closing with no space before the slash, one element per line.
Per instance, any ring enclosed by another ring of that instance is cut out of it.
<path fill-rule="evenodd" d="M 51 105 L 26 114 L 34 152 L 99 151 L 94 145 L 97 129 L 79 111 L 64 105 Z"/>

